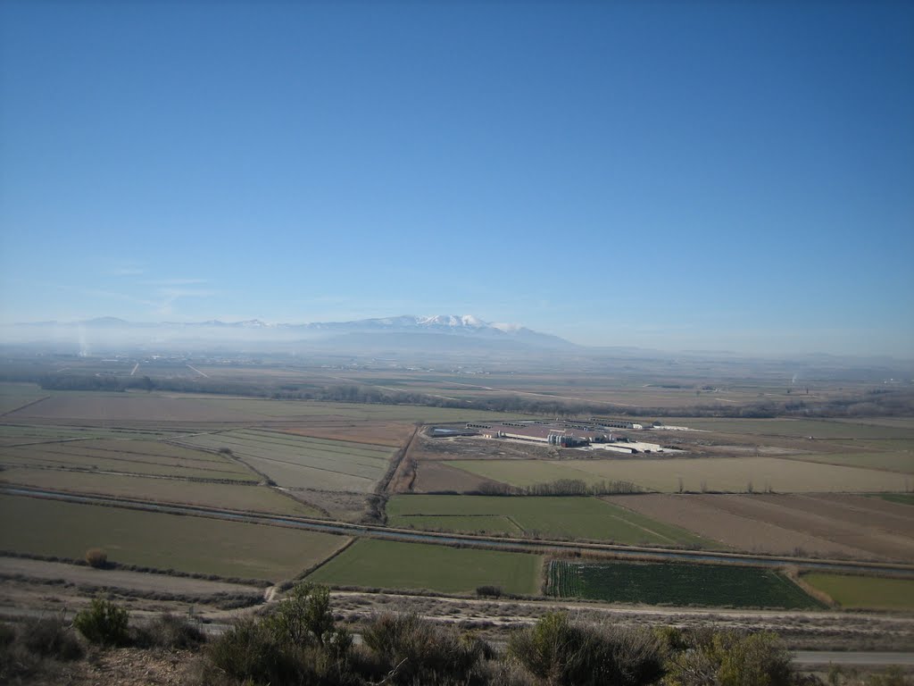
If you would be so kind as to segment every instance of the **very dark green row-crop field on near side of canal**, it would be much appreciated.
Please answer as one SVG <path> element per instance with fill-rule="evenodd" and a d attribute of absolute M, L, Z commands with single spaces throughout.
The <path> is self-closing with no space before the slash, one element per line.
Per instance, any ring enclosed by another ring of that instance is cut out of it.
<path fill-rule="evenodd" d="M 668 606 L 824 607 L 780 573 L 686 563 L 549 564 L 547 591 L 607 603 Z"/>

